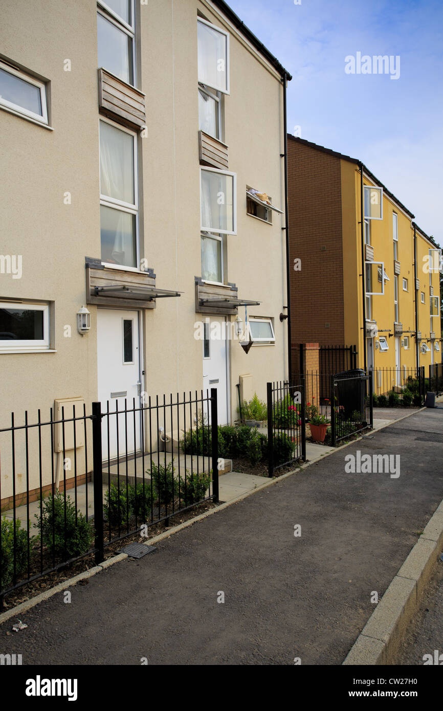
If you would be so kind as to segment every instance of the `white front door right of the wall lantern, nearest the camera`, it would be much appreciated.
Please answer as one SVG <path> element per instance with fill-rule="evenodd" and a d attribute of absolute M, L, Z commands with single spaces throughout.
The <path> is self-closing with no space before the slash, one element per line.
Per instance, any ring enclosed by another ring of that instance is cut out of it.
<path fill-rule="evenodd" d="M 97 309 L 97 390 L 102 412 L 140 407 L 140 326 L 139 311 Z M 117 423 L 118 420 L 118 423 Z M 110 415 L 102 419 L 103 459 L 124 456 L 140 449 L 141 414 Z M 118 431 L 117 431 L 118 424 Z"/>

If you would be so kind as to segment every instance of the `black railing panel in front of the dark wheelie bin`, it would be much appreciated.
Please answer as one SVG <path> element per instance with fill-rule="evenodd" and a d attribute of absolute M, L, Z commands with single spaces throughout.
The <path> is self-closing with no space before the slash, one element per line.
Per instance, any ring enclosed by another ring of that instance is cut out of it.
<path fill-rule="evenodd" d="M 331 375 L 331 444 L 373 427 L 372 373 Z"/>

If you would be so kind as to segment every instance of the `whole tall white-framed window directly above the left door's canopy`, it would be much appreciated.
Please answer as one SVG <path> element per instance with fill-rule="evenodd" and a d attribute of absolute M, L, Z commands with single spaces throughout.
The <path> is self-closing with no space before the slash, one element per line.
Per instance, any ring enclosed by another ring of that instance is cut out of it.
<path fill-rule="evenodd" d="M 137 268 L 137 142 L 128 129 L 100 121 L 102 262 Z"/>

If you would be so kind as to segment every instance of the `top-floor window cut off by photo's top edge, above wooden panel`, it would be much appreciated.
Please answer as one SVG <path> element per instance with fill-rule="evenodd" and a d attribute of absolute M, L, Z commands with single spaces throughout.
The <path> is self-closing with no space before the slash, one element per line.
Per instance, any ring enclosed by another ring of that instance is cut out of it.
<path fill-rule="evenodd" d="M 97 6 L 98 65 L 135 86 L 134 0 L 107 0 Z"/>

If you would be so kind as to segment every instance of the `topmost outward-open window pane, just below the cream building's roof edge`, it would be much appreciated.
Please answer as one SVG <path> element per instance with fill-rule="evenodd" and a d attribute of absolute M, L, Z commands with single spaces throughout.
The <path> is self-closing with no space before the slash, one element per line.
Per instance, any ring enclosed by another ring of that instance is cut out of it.
<path fill-rule="evenodd" d="M 226 36 L 197 23 L 198 81 L 219 91 L 228 91 L 228 57 Z"/>

